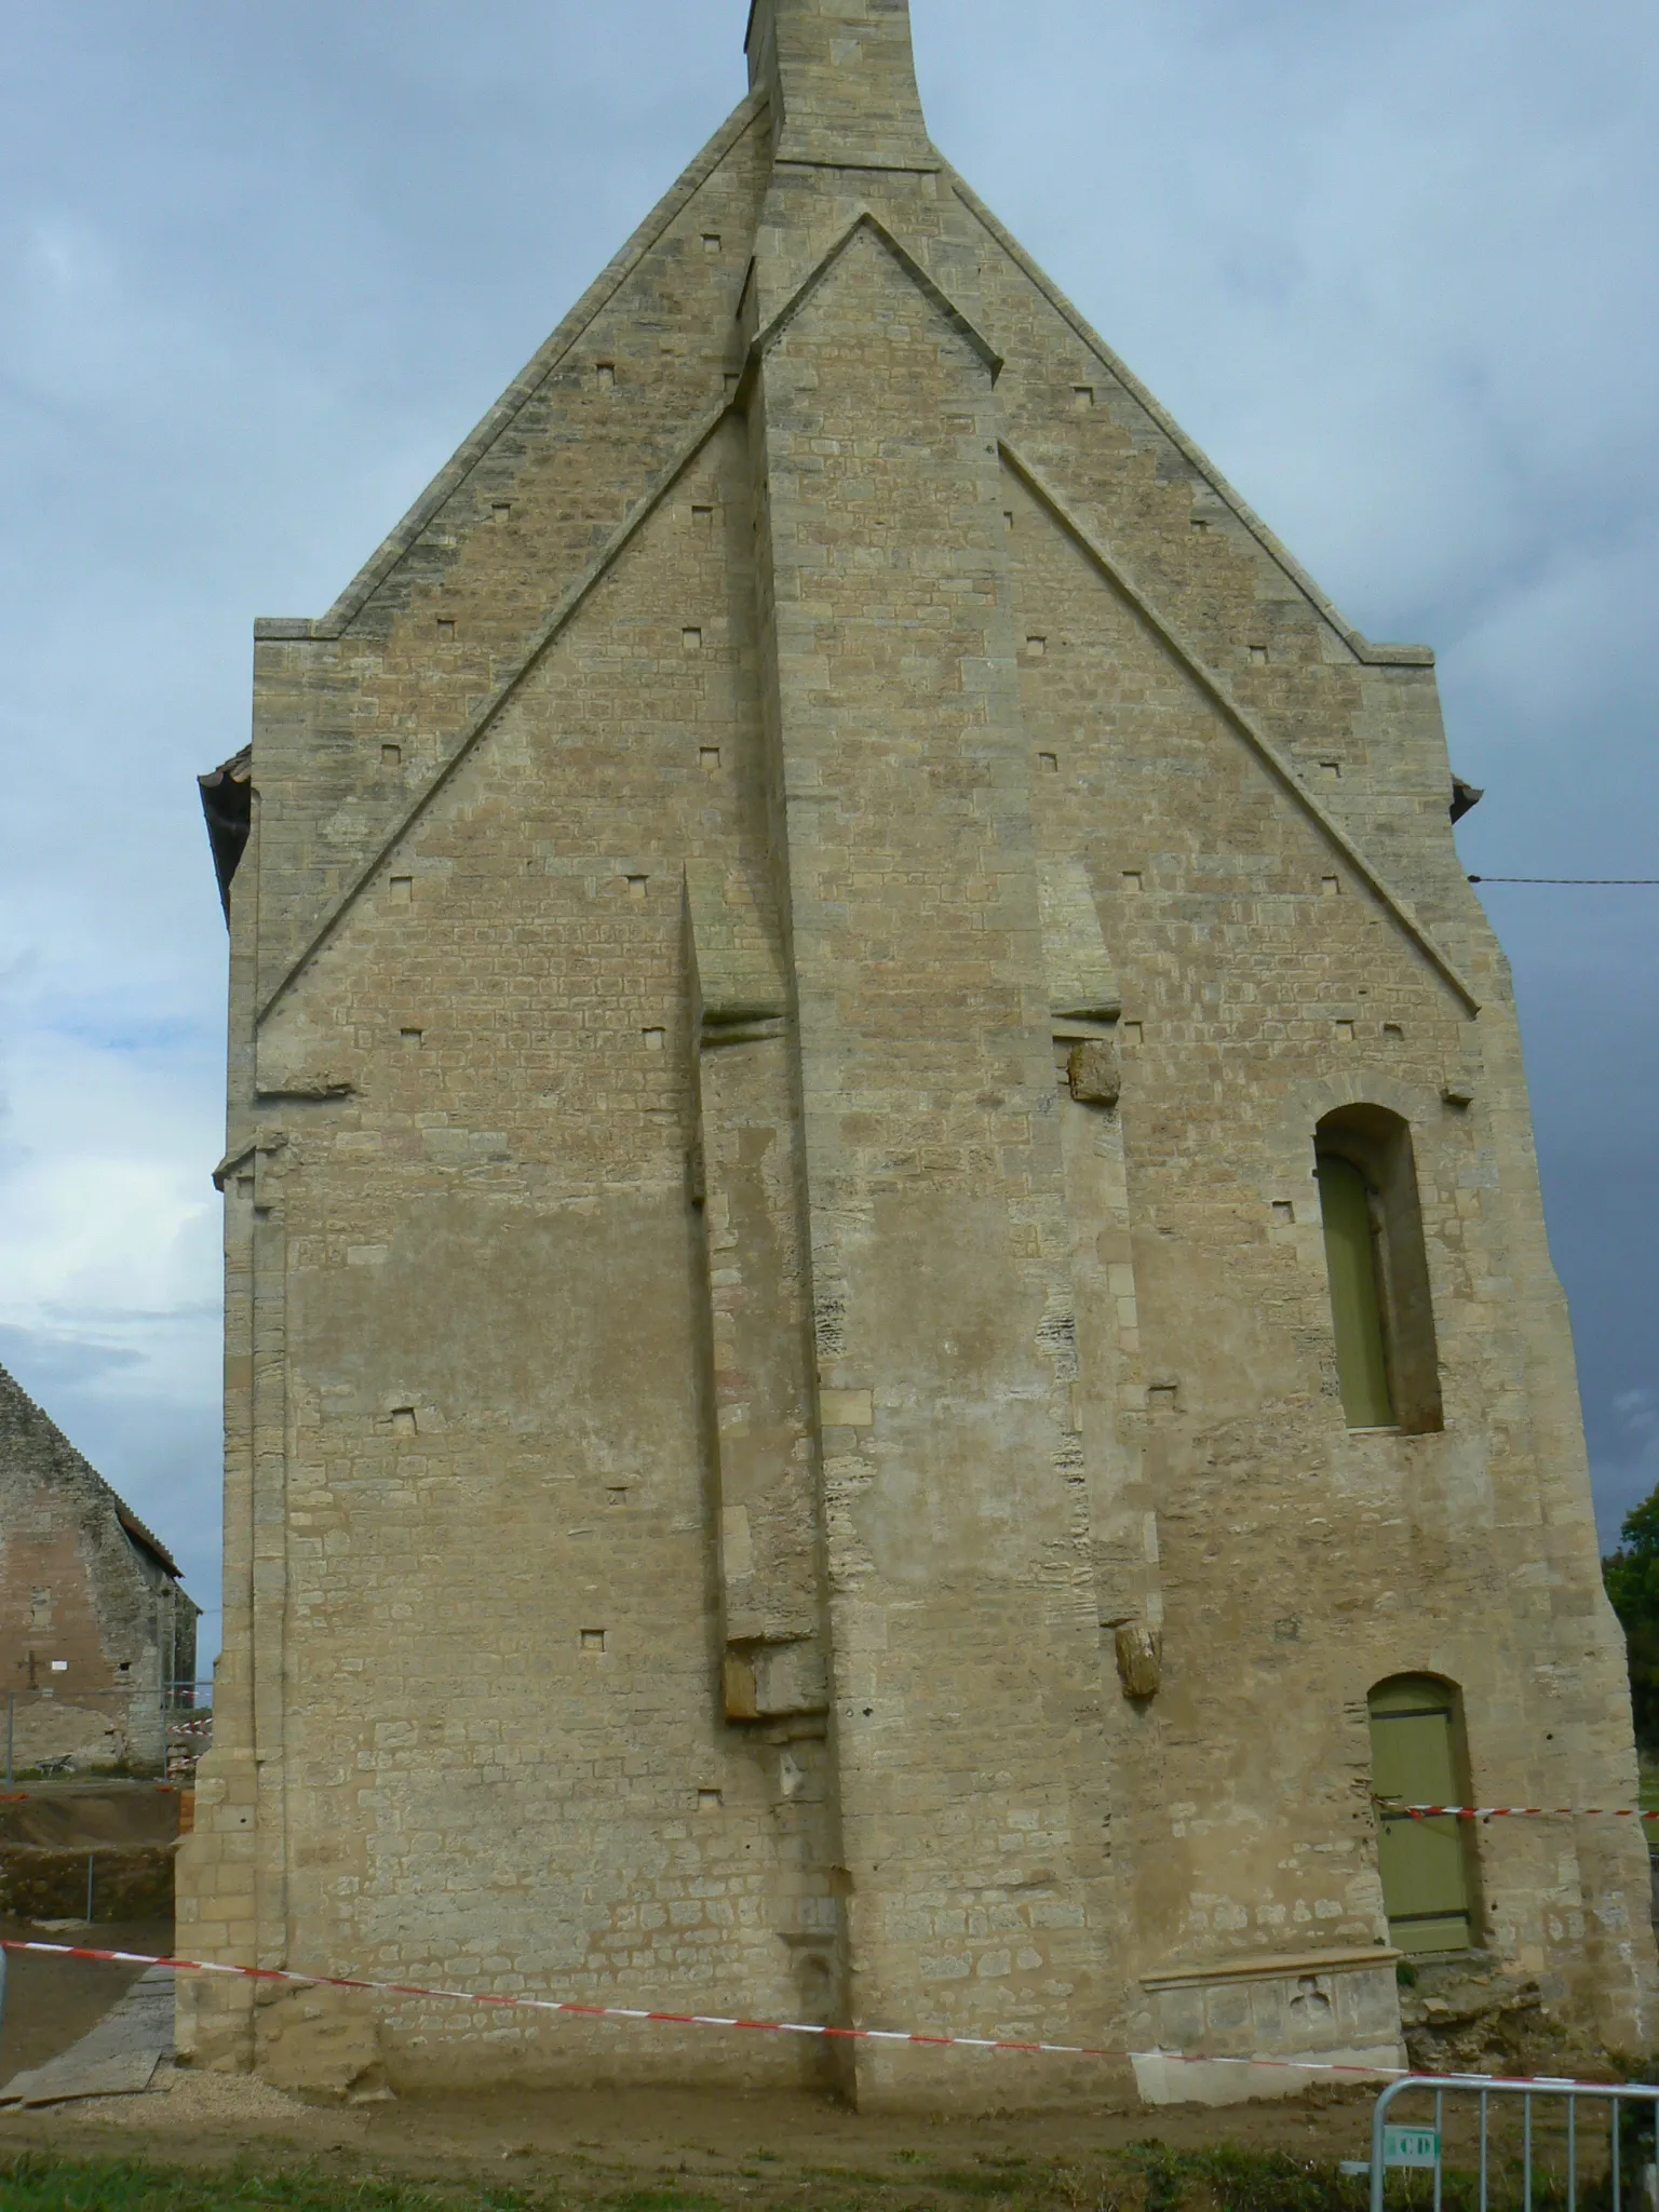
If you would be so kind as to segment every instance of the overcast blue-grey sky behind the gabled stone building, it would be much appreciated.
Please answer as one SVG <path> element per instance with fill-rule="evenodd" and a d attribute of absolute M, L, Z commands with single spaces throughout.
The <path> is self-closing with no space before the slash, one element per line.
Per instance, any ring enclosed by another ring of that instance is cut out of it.
<path fill-rule="evenodd" d="M 0 1363 L 217 1608 L 195 774 L 743 91 L 745 0 L 0 0 Z M 1347 615 L 1491 874 L 1659 876 L 1652 0 L 914 0 L 938 144 Z M 1604 1531 L 1659 891 L 1500 889 Z M 208 1624 L 217 1635 L 217 1617 Z"/>

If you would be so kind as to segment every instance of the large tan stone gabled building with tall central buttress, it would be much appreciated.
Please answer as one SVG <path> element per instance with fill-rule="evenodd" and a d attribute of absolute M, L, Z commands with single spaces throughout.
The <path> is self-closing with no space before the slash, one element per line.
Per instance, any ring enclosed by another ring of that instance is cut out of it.
<path fill-rule="evenodd" d="M 334 608 L 257 626 L 210 779 L 179 1940 L 1365 2059 L 1400 1949 L 1480 1949 L 1648 2048 L 1630 1823 L 1376 1805 L 1635 1801 L 1433 655 L 1345 622 L 936 153 L 905 0 L 757 0 L 748 60 Z M 1104 2079 L 181 2004 L 294 2081 Z"/>

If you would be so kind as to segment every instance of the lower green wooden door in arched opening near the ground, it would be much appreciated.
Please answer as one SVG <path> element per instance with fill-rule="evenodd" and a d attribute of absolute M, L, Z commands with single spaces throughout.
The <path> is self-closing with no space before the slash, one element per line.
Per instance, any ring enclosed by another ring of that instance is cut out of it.
<path fill-rule="evenodd" d="M 1455 1805 L 1458 1756 L 1451 1690 L 1400 1677 L 1371 1690 L 1371 1787 L 1402 1805 Z M 1469 1944 L 1469 1840 L 1460 1820 L 1378 1823 L 1383 1905 L 1402 1951 L 1462 1951 Z"/>

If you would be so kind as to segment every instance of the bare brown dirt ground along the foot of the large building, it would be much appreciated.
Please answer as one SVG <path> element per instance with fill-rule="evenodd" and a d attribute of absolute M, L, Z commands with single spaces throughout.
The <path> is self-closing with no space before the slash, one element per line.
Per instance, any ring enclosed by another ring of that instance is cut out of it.
<path fill-rule="evenodd" d="M 170 1929 L 144 1924 L 95 1931 L 102 1947 L 148 1953 L 164 1953 L 168 1938 Z M 86 2033 L 137 1971 L 11 1953 L 0 2081 Z M 144 2097 L 0 2112 L 0 2159 L 22 2150 L 206 2168 L 254 2159 L 261 2170 L 557 2190 L 577 2201 L 633 2192 L 644 2203 L 639 2190 L 668 2188 L 675 2203 L 695 2197 L 759 2212 L 765 2203 L 845 2203 L 865 2190 L 905 2188 L 916 2197 L 929 2183 L 993 2197 L 1000 2174 L 1042 2168 L 1062 2179 L 1099 2177 L 1113 2170 L 1115 2154 L 1144 2143 L 1283 2152 L 1329 2172 L 1340 2159 L 1367 2154 L 1371 2101 L 1365 2086 L 1329 2086 L 1283 2104 L 1148 2110 L 1126 2073 L 1104 2070 L 1102 2099 L 1086 2112 L 936 2121 L 847 2112 L 812 2095 L 661 2088 L 383 2090 L 376 2101 L 352 2104 L 168 2068 Z M 1453 2157 L 1462 2132 L 1449 2119 Z M 1064 2190 L 1057 2201 L 1068 2201 Z"/>

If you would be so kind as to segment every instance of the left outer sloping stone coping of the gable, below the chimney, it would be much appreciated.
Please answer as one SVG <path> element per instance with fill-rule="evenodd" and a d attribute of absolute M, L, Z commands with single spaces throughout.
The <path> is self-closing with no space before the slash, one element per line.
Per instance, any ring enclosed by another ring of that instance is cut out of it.
<path fill-rule="evenodd" d="M 531 354 L 526 365 L 518 372 L 507 392 L 502 392 L 489 414 L 484 414 L 476 429 L 462 438 L 403 520 L 380 540 L 374 553 L 369 553 L 327 613 L 316 617 L 257 615 L 257 641 L 307 644 L 312 639 L 327 641 L 345 635 L 347 626 L 363 613 L 380 584 L 385 584 L 394 568 L 414 551 L 431 518 L 456 495 L 456 491 L 460 491 L 502 431 L 507 431 L 520 411 L 535 398 L 571 347 L 611 305 L 628 276 L 633 276 L 657 239 L 679 215 L 684 215 L 721 161 L 743 139 L 752 124 L 765 115 L 765 91 L 750 91 L 743 100 L 739 100 L 701 153 L 695 155 L 646 219 L 633 230 L 628 241 L 611 257 L 611 261 L 606 261 L 553 334 Z"/>

